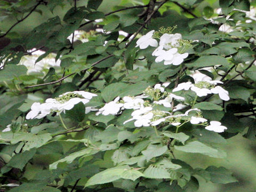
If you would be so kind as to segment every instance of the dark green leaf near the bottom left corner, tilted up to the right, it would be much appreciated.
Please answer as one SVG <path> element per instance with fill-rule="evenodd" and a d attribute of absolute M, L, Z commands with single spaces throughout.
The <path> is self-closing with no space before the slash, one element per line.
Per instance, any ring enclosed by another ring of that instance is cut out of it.
<path fill-rule="evenodd" d="M 14 155 L 11 158 L 10 162 L 7 163 L 7 166 L 22 170 L 23 167 L 25 167 L 25 165 L 28 163 L 28 161 L 31 158 L 33 158 L 35 154 L 36 154 L 36 149 L 34 148 L 29 151 L 25 151 L 23 153 Z"/>

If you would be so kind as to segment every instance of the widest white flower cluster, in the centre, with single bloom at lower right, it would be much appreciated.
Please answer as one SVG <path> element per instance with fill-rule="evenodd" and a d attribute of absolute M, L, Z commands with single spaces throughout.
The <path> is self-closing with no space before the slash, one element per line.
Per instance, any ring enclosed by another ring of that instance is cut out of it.
<path fill-rule="evenodd" d="M 211 81 L 210 83 L 217 84 L 219 82 Z M 207 119 L 202 117 L 201 110 L 197 108 L 189 109 L 185 112 L 185 114 L 178 113 L 174 115 L 172 115 L 172 113 L 169 111 L 157 109 L 159 108 L 159 105 L 171 108 L 173 99 L 178 101 L 185 100 L 183 97 L 166 92 L 165 87 L 167 87 L 169 84 L 170 82 L 166 82 L 162 85 L 156 84 L 154 88 L 148 87 L 143 95 L 139 95 L 137 97 L 126 96 L 122 100 L 117 97 L 114 101 L 110 101 L 106 103 L 105 106 L 100 108 L 96 115 L 117 115 L 122 114 L 123 110 L 125 109 L 133 109 L 134 111 L 131 114 L 132 118 L 128 119 L 123 124 L 134 121 L 134 126 L 136 127 L 157 126 L 161 123 L 170 123 L 173 126 L 179 126 L 183 122 L 190 122 L 194 125 L 207 125 Z M 190 83 L 187 85 L 187 87 L 183 86 L 183 88 L 186 90 L 190 89 L 190 87 Z M 179 107 L 178 105 L 176 107 Z M 173 107 L 173 109 L 176 107 Z M 190 113 L 191 111 L 194 112 Z M 172 112 L 174 112 L 174 110 Z M 221 126 L 220 122 L 211 122 L 211 125 L 206 126 L 206 129 L 215 132 L 223 132 L 225 129 L 227 129 L 227 127 Z"/>

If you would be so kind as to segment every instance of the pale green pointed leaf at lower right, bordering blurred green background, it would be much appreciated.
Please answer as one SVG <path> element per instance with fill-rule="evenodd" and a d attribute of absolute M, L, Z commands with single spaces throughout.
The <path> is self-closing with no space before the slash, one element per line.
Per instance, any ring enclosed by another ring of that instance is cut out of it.
<path fill-rule="evenodd" d="M 175 149 L 186 153 L 201 153 L 210 157 L 225 158 L 226 154 L 220 150 L 211 148 L 198 141 L 192 141 L 185 146 L 174 146 Z"/>

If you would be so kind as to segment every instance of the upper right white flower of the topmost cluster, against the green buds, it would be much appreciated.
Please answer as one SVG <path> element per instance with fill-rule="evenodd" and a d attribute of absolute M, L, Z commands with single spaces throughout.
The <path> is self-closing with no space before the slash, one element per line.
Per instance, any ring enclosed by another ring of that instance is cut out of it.
<path fill-rule="evenodd" d="M 163 34 L 160 37 L 159 45 L 169 50 L 172 46 L 177 46 L 179 39 L 181 39 L 181 34 Z"/>

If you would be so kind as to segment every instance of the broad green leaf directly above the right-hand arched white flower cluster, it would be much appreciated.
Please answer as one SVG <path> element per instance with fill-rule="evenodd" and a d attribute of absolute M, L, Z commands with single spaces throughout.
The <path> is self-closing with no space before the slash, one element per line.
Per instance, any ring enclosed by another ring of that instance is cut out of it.
<path fill-rule="evenodd" d="M 217 56 L 217 55 L 211 55 L 211 56 L 203 56 L 197 59 L 196 61 L 192 63 L 188 63 L 187 67 L 196 67 L 196 68 L 202 68 L 202 67 L 210 67 L 215 65 L 222 65 L 224 67 L 228 67 L 228 61 L 227 59 Z"/>

